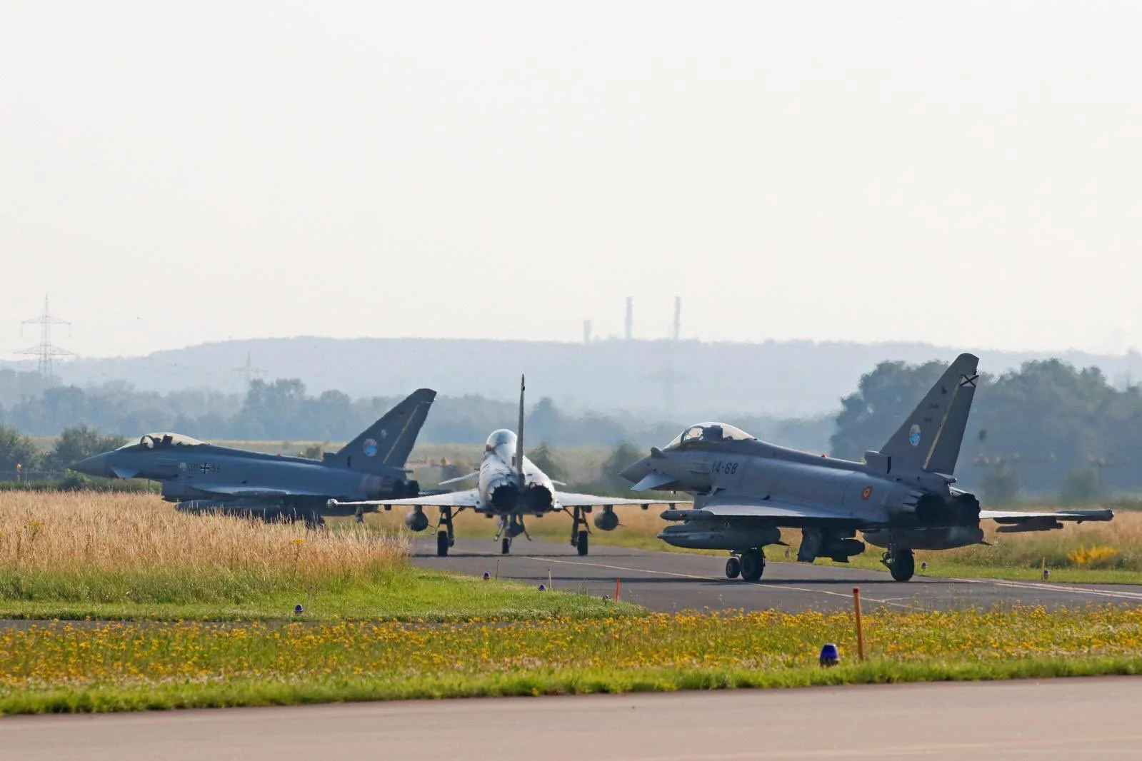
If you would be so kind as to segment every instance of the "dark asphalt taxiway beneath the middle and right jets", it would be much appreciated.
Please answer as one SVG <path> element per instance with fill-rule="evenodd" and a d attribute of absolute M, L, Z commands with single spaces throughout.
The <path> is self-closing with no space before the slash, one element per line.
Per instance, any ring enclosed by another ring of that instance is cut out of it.
<path fill-rule="evenodd" d="M 769 562 L 758 583 L 725 577 L 725 558 L 683 552 L 654 552 L 594 544 L 580 558 L 569 544 L 517 539 L 512 553 L 501 556 L 499 543 L 458 539 L 447 558 L 436 557 L 435 536 L 418 540 L 413 562 L 426 568 L 476 576 L 496 574 L 531 584 L 592 594 L 614 594 L 652 610 L 780 608 L 786 612 L 851 609 L 852 589 L 861 588 L 866 609 L 949 609 L 990 607 L 996 604 L 1081 607 L 1091 604 L 1142 605 L 1142 586 L 1120 584 L 1061 584 L 973 578 L 940 578 L 917 574 L 910 582 L 892 581 L 887 572 L 841 568 L 801 562 Z M 771 552 L 772 557 L 772 552 Z"/>

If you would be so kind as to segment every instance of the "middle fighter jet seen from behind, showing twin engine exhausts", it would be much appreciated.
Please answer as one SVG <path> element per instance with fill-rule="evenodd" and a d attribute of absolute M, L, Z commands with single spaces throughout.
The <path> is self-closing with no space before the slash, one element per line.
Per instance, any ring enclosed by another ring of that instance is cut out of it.
<path fill-rule="evenodd" d="M 451 492 L 434 496 L 421 496 L 404 500 L 363 500 L 360 502 L 330 501 L 331 509 L 376 508 L 384 505 L 389 509 L 394 504 L 410 504 L 412 511 L 404 516 L 404 525 L 411 531 L 423 532 L 428 528 L 428 516 L 424 513 L 426 505 L 440 509 L 440 520 L 436 524 L 436 554 L 448 556 L 448 550 L 456 542 L 452 529 L 452 518 L 467 509 L 492 517 L 497 524 L 496 541 L 500 542 L 500 552 L 507 554 L 512 549 L 512 540 L 528 532 L 523 525 L 524 516 L 542 516 L 549 512 L 566 512 L 571 516 L 571 547 L 579 554 L 587 554 L 589 547 L 589 527 L 586 515 L 595 505 L 603 511 L 595 516 L 595 528 L 614 531 L 619 526 L 619 517 L 614 512 L 617 504 L 641 504 L 643 510 L 651 504 L 662 504 L 662 500 L 626 500 L 613 496 L 596 496 L 594 494 L 572 494 L 558 492 L 556 486 L 565 486 L 547 477 L 523 454 L 523 378 L 520 378 L 520 423 L 518 432 L 507 429 L 492 431 L 484 444 L 484 454 L 480 469 L 459 478 L 442 481 L 449 486 L 469 478 L 476 479 L 476 488 L 465 492 Z M 676 502 L 668 502 L 674 508 Z M 689 502 L 687 502 L 689 504 Z M 528 539 L 531 539 L 528 536 Z"/>

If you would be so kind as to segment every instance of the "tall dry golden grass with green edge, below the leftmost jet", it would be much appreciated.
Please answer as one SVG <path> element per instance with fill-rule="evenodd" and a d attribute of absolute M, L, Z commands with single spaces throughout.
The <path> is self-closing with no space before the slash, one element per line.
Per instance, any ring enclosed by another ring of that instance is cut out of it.
<path fill-rule="evenodd" d="M 0 618 L 449 621 L 616 612 L 581 594 L 413 568 L 408 550 L 405 536 L 353 524 L 311 531 L 186 515 L 154 494 L 2 492 Z"/>

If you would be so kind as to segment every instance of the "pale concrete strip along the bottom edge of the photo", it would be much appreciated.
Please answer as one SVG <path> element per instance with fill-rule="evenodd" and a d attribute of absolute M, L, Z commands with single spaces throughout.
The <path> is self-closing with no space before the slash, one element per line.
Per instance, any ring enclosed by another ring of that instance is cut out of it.
<path fill-rule="evenodd" d="M 0 719 L 0 756 L 1136 759 L 1142 678 L 359 703 Z"/>

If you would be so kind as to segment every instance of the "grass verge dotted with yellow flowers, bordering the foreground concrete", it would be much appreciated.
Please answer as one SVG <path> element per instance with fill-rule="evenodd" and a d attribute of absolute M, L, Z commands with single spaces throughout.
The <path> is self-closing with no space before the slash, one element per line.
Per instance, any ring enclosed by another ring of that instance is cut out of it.
<path fill-rule="evenodd" d="M 413 624 L 73 626 L 0 634 L 0 713 L 1142 673 L 1142 612 L 650 615 Z M 844 664 L 815 665 L 836 642 Z"/>

